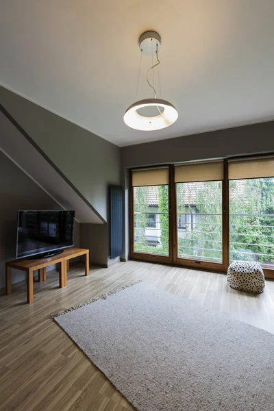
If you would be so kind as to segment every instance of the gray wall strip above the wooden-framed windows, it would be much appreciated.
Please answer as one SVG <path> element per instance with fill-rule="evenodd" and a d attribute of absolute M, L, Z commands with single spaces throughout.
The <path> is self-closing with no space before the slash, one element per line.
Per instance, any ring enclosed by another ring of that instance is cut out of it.
<path fill-rule="evenodd" d="M 124 169 L 268 151 L 274 151 L 274 121 L 122 147 L 121 161 Z"/>

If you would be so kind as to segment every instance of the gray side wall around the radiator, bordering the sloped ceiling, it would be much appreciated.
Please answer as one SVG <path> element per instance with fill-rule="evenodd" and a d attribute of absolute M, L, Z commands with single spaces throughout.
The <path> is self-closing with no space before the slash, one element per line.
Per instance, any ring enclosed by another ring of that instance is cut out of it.
<path fill-rule="evenodd" d="M 108 185 L 121 184 L 121 149 L 1 86 L 0 101 L 107 222 Z M 107 223 L 82 232 L 88 240 L 82 234 L 80 247 L 90 249 L 90 261 L 108 264 Z"/>

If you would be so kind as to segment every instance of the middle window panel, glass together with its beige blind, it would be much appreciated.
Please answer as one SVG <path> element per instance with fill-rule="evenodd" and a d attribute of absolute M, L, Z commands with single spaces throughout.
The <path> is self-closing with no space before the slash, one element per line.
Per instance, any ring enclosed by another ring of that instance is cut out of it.
<path fill-rule="evenodd" d="M 223 162 L 175 166 L 178 259 L 223 262 L 222 180 Z"/>

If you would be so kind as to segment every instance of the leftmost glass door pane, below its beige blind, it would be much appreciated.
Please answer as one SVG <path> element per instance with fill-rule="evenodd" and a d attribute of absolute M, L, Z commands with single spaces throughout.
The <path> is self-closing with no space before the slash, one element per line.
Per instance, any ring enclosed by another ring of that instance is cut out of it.
<path fill-rule="evenodd" d="M 169 186 L 134 187 L 134 253 L 169 256 Z"/>

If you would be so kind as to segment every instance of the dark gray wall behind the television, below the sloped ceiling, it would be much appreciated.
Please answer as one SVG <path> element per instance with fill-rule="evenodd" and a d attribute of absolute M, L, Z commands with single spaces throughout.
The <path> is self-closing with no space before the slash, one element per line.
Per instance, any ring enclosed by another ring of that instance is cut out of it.
<path fill-rule="evenodd" d="M 5 287 L 5 261 L 16 258 L 17 210 L 60 210 L 45 191 L 0 151 L 0 288 Z M 79 247 L 79 225 L 75 225 L 75 245 Z M 25 279 L 12 270 L 12 283 Z"/>

